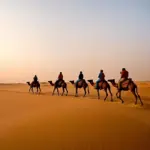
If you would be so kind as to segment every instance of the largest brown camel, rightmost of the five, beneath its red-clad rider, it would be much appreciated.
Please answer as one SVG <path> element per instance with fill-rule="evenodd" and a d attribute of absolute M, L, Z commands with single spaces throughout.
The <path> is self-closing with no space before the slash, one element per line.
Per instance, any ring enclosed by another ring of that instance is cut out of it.
<path fill-rule="evenodd" d="M 109 81 L 115 88 L 118 89 L 118 84 L 115 82 L 115 79 L 110 79 L 110 80 L 108 80 L 108 81 Z M 143 102 L 142 102 L 142 100 L 141 100 L 141 97 L 140 97 L 140 95 L 139 95 L 139 93 L 138 93 L 138 87 L 137 87 L 137 85 L 132 81 L 131 78 L 130 78 L 130 79 L 127 79 L 127 80 L 125 80 L 125 81 L 123 81 L 123 82 L 121 83 L 121 89 L 120 89 L 120 90 L 118 89 L 118 91 L 117 91 L 117 93 L 116 93 L 117 98 L 119 98 L 119 99 L 121 100 L 121 102 L 124 103 L 123 99 L 121 98 L 121 91 L 129 91 L 129 90 L 132 92 L 132 94 L 133 94 L 134 97 L 135 97 L 135 105 L 137 104 L 137 100 L 138 100 L 138 99 L 140 100 L 141 105 L 143 105 Z M 118 94 L 119 94 L 119 96 L 118 96 Z"/>

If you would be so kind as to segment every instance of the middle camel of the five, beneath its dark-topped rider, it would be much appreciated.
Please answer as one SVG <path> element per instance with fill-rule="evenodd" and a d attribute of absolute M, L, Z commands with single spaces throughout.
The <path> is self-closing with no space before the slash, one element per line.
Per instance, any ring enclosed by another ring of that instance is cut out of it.
<path fill-rule="evenodd" d="M 70 83 L 73 84 L 73 85 L 75 84 L 74 80 L 71 80 Z M 75 88 L 76 88 L 76 94 L 75 94 L 76 97 L 78 96 L 78 88 L 83 88 L 84 89 L 84 96 L 83 97 L 86 96 L 86 93 L 87 93 L 86 88 L 88 88 L 88 94 L 90 93 L 89 86 L 88 86 L 88 84 L 86 83 L 85 80 L 81 80 L 77 84 L 75 84 Z"/>

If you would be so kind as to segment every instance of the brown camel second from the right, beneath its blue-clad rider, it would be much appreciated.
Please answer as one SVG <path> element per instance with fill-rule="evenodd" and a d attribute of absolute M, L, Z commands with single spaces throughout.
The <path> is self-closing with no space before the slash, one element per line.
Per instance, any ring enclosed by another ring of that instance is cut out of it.
<path fill-rule="evenodd" d="M 93 80 L 88 80 L 88 82 L 89 82 L 92 86 L 96 86 L 96 83 L 94 83 Z M 99 82 L 99 83 L 98 83 L 98 87 L 97 87 L 98 99 L 100 99 L 100 90 L 104 90 L 105 93 L 106 93 L 106 97 L 104 98 L 104 101 L 105 101 L 105 100 L 107 99 L 107 97 L 108 97 L 108 92 L 107 92 L 107 90 L 108 90 L 109 93 L 110 93 L 111 101 L 113 101 L 111 88 L 110 88 L 110 85 L 108 84 L 107 81 L 102 81 L 102 82 Z"/>

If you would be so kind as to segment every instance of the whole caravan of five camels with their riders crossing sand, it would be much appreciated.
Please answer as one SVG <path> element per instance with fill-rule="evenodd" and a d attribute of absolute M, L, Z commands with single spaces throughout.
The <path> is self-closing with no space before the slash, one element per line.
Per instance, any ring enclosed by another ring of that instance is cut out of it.
<path fill-rule="evenodd" d="M 137 85 L 133 82 L 133 80 L 131 78 L 128 78 L 129 73 L 125 68 L 122 68 L 122 71 L 120 72 L 121 74 L 121 78 L 119 80 L 118 83 L 115 82 L 115 79 L 109 79 L 109 80 L 105 80 L 105 74 L 103 72 L 103 70 L 100 70 L 100 73 L 98 75 L 98 80 L 94 83 L 93 80 L 85 80 L 84 79 L 84 75 L 82 73 L 82 71 L 80 71 L 80 74 L 78 76 L 78 80 L 75 82 L 74 80 L 69 81 L 72 85 L 74 85 L 75 87 L 75 96 L 78 96 L 78 89 L 83 88 L 84 90 L 84 95 L 83 97 L 85 97 L 88 94 L 90 94 L 89 91 L 89 84 L 91 86 L 94 87 L 94 89 L 97 90 L 97 95 L 98 95 L 98 99 L 100 99 L 100 90 L 104 90 L 105 91 L 105 98 L 104 101 L 107 99 L 108 97 L 108 93 L 110 94 L 111 97 L 111 101 L 113 101 L 113 95 L 111 92 L 111 87 L 109 82 L 112 84 L 113 87 L 115 87 L 117 89 L 117 93 L 116 96 L 118 99 L 120 99 L 120 101 L 122 103 L 124 103 L 122 97 L 121 97 L 121 92 L 122 91 L 131 91 L 131 93 L 134 95 L 135 97 L 135 104 L 137 104 L 137 100 L 139 99 L 140 104 L 143 105 L 143 102 L 141 100 L 141 97 L 138 93 L 138 87 Z M 57 90 L 57 94 L 60 95 L 59 93 L 59 88 L 62 88 L 62 96 L 68 95 L 68 89 L 67 89 L 67 83 L 63 80 L 63 74 L 62 72 L 60 72 L 59 76 L 58 76 L 58 80 L 53 83 L 52 81 L 48 81 L 48 83 L 54 87 L 52 95 L 54 95 L 55 90 Z M 89 84 L 88 84 L 89 83 Z M 41 92 L 41 88 L 40 88 L 40 83 L 38 81 L 38 77 L 35 75 L 33 78 L 33 82 L 27 82 L 27 84 L 29 85 L 29 92 L 32 91 L 32 93 L 34 93 L 33 88 L 36 88 L 37 93 Z"/>

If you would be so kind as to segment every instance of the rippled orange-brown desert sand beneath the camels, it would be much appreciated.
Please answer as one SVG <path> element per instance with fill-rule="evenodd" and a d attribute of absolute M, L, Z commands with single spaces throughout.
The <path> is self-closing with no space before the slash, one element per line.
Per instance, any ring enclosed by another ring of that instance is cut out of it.
<path fill-rule="evenodd" d="M 0 150 L 150 150 L 150 82 L 137 82 L 144 106 L 134 105 L 130 92 L 125 103 L 104 92 L 52 96 L 42 84 L 40 95 L 28 93 L 26 84 L 0 85 Z M 60 90 L 61 91 L 61 90 Z"/>

